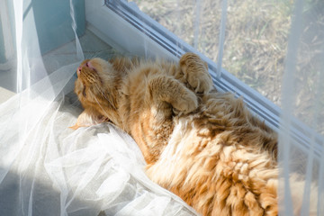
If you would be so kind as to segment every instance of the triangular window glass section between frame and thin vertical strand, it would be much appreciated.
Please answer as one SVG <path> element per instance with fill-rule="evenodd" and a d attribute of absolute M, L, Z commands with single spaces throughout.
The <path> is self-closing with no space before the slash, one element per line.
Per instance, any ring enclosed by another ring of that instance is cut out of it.
<path fill-rule="evenodd" d="M 217 60 L 221 2 L 135 0 L 139 9 L 211 60 Z"/>

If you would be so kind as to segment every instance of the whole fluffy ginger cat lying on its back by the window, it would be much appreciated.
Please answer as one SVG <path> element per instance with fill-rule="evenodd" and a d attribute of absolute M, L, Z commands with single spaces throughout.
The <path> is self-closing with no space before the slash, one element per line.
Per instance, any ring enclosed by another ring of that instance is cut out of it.
<path fill-rule="evenodd" d="M 155 183 L 202 215 L 277 215 L 277 136 L 241 99 L 212 89 L 208 67 L 138 58 L 85 60 L 76 125 L 112 121 L 138 143 Z"/>

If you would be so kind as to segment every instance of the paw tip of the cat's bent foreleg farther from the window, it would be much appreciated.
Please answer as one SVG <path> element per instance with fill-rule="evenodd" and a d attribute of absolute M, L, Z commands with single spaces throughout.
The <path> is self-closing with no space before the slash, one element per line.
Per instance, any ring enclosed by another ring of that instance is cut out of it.
<path fill-rule="evenodd" d="M 175 113 L 189 113 L 198 108 L 198 98 L 192 91 L 186 91 L 180 94 L 172 102 Z"/>

